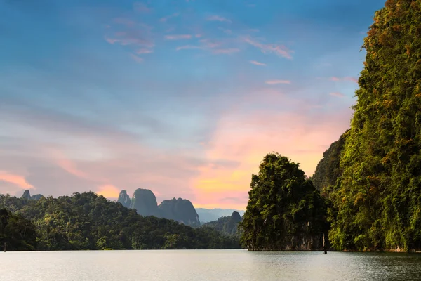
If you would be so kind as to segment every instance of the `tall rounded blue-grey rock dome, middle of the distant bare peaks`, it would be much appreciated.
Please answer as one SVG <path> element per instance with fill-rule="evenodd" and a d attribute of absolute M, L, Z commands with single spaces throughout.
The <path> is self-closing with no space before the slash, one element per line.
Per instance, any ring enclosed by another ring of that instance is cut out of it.
<path fill-rule="evenodd" d="M 133 193 L 130 208 L 138 211 L 142 216 L 158 216 L 158 203 L 154 193 L 149 189 L 138 188 Z"/>

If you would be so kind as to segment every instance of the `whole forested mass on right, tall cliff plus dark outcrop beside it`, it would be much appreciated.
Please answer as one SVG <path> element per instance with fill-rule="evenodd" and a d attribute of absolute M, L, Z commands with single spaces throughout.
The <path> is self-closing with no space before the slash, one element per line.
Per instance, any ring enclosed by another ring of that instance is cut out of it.
<path fill-rule="evenodd" d="M 252 176 L 245 247 L 299 249 L 327 227 L 339 251 L 421 250 L 421 1 L 386 1 L 363 48 L 350 128 L 311 180 L 274 154 Z"/>

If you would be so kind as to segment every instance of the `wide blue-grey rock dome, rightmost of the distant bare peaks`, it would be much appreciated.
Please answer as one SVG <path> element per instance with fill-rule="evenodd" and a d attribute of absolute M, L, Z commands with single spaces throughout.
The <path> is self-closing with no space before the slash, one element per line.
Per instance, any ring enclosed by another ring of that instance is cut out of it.
<path fill-rule="evenodd" d="M 182 198 L 163 200 L 159 204 L 159 212 L 163 218 L 169 218 L 187 226 L 200 226 L 199 215 L 189 200 Z"/>

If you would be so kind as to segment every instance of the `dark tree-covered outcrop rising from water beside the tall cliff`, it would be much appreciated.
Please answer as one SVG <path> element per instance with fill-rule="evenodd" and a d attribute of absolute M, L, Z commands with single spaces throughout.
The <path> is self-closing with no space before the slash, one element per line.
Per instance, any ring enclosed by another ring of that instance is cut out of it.
<path fill-rule="evenodd" d="M 319 249 L 326 206 L 299 164 L 268 154 L 253 175 L 241 243 L 251 250 Z"/>

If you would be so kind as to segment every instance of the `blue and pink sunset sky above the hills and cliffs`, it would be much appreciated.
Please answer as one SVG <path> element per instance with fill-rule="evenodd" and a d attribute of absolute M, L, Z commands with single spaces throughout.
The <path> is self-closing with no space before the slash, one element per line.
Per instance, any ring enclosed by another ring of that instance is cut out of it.
<path fill-rule="evenodd" d="M 384 0 L 0 0 L 0 193 L 245 209 L 349 128 Z"/>

